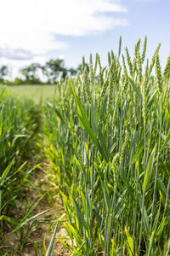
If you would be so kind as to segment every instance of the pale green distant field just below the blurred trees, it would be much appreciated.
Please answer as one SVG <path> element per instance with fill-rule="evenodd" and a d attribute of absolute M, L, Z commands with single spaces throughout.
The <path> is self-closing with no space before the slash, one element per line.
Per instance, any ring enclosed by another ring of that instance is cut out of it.
<path fill-rule="evenodd" d="M 27 97 L 37 103 L 44 102 L 56 94 L 55 85 L 8 85 L 7 88 L 14 96 Z"/>

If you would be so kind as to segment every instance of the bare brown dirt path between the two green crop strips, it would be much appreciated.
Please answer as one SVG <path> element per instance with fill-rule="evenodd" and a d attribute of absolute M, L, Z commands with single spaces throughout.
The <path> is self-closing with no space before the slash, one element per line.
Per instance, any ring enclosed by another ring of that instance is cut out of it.
<path fill-rule="evenodd" d="M 48 168 L 45 167 L 46 172 L 48 172 Z M 51 241 L 51 238 L 53 236 L 54 225 L 56 224 L 56 220 L 58 220 L 63 214 L 65 214 L 59 200 L 59 193 L 58 195 L 54 195 L 54 189 L 48 182 L 47 177 L 48 176 L 45 172 L 39 171 L 37 172 L 37 175 L 36 177 L 34 177 L 33 180 L 35 188 L 40 188 L 42 195 L 48 192 L 48 194 L 46 194 L 44 198 L 42 198 L 42 200 L 39 202 L 34 213 L 37 214 L 47 209 L 48 211 L 43 213 L 42 216 L 39 219 L 37 219 L 37 223 L 34 227 L 35 230 L 33 230 L 31 235 L 28 237 L 28 242 L 23 248 L 23 252 L 21 254 L 23 256 L 36 255 L 35 241 L 37 242 L 37 247 L 39 247 L 39 249 L 37 250 L 37 255 L 44 255 L 44 253 L 41 252 L 42 247 L 46 247 L 48 249 L 49 242 Z M 40 195 L 38 195 L 36 189 L 33 189 L 31 191 L 31 200 L 37 201 L 39 198 Z M 51 224 L 53 224 L 52 227 Z M 65 229 L 62 228 L 62 226 L 60 225 L 56 237 L 66 236 L 67 234 L 65 232 Z M 53 255 L 69 255 L 68 250 L 59 241 L 57 241 L 57 239 L 54 243 Z"/>

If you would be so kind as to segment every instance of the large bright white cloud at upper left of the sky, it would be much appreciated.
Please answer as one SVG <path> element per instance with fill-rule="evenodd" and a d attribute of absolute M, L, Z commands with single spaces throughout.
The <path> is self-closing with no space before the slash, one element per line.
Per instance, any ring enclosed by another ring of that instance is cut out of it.
<path fill-rule="evenodd" d="M 125 13 L 117 0 L 0 0 L 0 56 L 37 59 L 68 47 L 58 35 L 104 32 L 128 21 L 106 13 Z"/>

